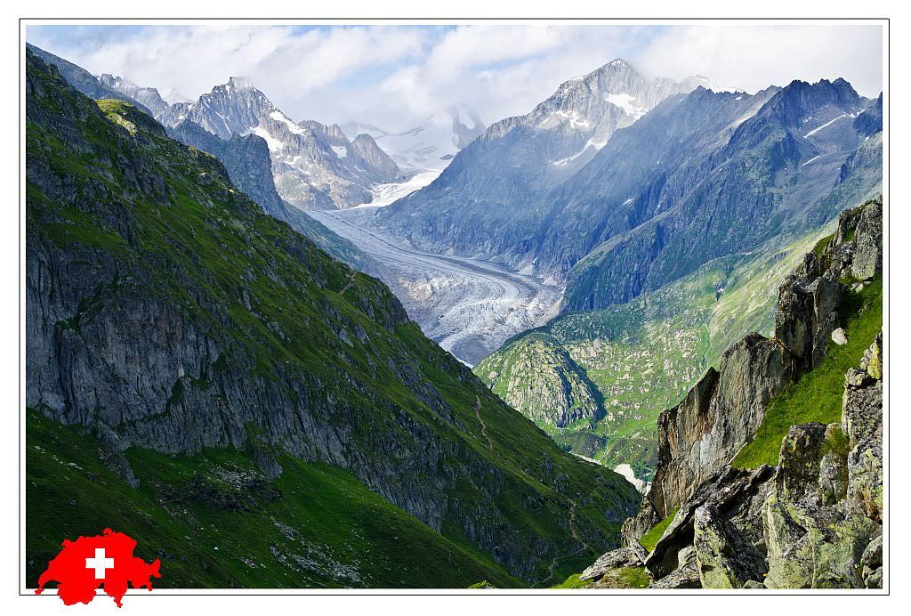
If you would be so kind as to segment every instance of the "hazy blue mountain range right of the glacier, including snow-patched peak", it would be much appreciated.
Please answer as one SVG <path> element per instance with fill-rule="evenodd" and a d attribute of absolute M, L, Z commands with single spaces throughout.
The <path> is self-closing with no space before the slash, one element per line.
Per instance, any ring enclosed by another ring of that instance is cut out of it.
<path fill-rule="evenodd" d="M 875 192 L 881 101 L 843 79 L 754 95 L 696 81 L 650 83 L 615 60 L 488 128 L 377 221 L 425 250 L 565 282 L 569 311 L 625 303 Z"/>

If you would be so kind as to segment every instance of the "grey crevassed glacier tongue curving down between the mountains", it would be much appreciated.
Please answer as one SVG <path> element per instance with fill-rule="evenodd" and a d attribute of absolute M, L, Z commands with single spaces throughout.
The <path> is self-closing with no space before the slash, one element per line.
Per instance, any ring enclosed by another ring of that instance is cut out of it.
<path fill-rule="evenodd" d="M 469 365 L 556 313 L 561 289 L 469 257 L 416 250 L 374 224 L 375 206 L 311 211 L 380 264 L 425 335 Z"/>

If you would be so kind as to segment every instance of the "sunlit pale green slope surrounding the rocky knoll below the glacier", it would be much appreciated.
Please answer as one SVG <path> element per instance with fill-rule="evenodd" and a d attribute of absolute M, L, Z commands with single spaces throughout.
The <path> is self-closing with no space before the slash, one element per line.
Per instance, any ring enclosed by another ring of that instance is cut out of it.
<path fill-rule="evenodd" d="M 562 344 L 597 389 L 604 418 L 593 428 L 587 421 L 557 428 L 542 421 L 537 409 L 519 410 L 534 417 L 562 447 L 609 467 L 630 464 L 638 477 L 650 479 L 660 412 L 679 403 L 744 334 L 771 334 L 779 284 L 824 232 L 814 231 L 783 248 L 770 245 L 751 255 L 710 262 L 628 304 L 559 316 L 508 341 L 477 364 L 475 372 L 497 395 L 514 402 L 508 379 L 498 377 L 502 373 L 522 381 L 510 374 L 515 364 L 511 349 L 535 335 L 548 335 L 552 344 Z"/>

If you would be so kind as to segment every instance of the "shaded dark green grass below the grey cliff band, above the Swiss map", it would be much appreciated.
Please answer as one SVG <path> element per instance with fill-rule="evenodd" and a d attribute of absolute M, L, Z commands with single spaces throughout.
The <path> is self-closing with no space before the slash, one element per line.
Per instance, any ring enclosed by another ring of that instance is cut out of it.
<path fill-rule="evenodd" d="M 98 452 L 105 447 L 83 429 L 29 411 L 26 437 L 32 583 L 62 538 L 111 527 L 138 540 L 138 556 L 162 560 L 161 587 L 459 588 L 480 578 L 524 585 L 336 467 L 282 457 L 281 477 L 259 492 L 221 486 L 248 509 L 232 511 L 213 498 L 176 495 L 189 494 L 194 477 L 218 488 L 223 471 L 255 474 L 246 452 L 168 457 L 131 449 L 127 457 L 140 481 L 133 489 L 102 464 Z"/>

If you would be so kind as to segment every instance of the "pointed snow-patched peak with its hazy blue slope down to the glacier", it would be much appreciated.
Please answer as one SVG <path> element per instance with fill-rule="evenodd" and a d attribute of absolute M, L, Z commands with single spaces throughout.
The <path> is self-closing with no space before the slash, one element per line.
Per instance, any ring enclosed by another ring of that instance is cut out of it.
<path fill-rule="evenodd" d="M 497 236 L 518 206 L 571 176 L 663 98 L 705 83 L 649 81 L 617 58 L 564 82 L 526 115 L 492 124 L 438 179 L 384 211 L 384 226 L 422 250 L 509 259 L 512 240 Z"/>

